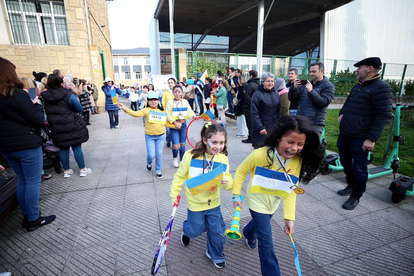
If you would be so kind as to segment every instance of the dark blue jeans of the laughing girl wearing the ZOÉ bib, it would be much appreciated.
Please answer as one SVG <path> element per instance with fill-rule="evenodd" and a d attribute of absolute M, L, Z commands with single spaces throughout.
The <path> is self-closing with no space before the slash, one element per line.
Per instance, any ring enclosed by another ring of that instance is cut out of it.
<path fill-rule="evenodd" d="M 274 253 L 272 226 L 270 219 L 273 214 L 262 214 L 250 210 L 252 220 L 243 228 L 243 235 L 253 242 L 258 240 L 260 268 L 262 276 L 280 276 L 279 262 Z"/>

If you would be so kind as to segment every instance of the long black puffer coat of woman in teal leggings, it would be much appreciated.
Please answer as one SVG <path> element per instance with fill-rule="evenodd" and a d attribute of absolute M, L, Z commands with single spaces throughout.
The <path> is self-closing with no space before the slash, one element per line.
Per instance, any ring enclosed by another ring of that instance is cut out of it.
<path fill-rule="evenodd" d="M 73 110 L 67 109 L 61 103 L 64 101 L 69 105 L 71 94 L 72 91 L 65 88 L 41 93 L 52 132 L 52 142 L 60 148 L 79 145 L 89 139 L 85 122 Z"/>

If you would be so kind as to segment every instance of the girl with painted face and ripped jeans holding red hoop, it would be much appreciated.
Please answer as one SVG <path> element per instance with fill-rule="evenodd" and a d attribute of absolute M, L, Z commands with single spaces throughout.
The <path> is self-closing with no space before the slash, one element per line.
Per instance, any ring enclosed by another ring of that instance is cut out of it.
<path fill-rule="evenodd" d="M 188 101 L 181 98 L 183 88 L 180 85 L 174 86 L 173 92 L 174 98 L 168 101 L 165 109 L 168 122 L 174 125 L 174 128 L 170 130 L 170 135 L 171 142 L 173 143 L 173 166 L 178 168 L 178 151 L 180 152 L 180 161 L 183 160 L 185 153 L 185 139 L 187 138 L 187 123 L 185 119 L 193 118 L 198 120 L 200 116 L 196 116 Z"/>

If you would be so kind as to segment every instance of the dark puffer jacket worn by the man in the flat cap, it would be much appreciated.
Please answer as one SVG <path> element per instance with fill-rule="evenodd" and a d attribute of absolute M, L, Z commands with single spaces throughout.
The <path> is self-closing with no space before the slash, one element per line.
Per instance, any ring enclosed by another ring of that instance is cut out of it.
<path fill-rule="evenodd" d="M 357 82 L 352 88 L 339 111 L 339 115 L 343 115 L 339 132 L 376 142 L 391 120 L 391 114 L 392 88 L 376 74 L 362 84 Z"/>

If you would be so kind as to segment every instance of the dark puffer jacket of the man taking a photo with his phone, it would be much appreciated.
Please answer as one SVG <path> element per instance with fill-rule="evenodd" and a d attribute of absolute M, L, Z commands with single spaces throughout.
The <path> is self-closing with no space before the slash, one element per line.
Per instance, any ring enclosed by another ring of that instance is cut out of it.
<path fill-rule="evenodd" d="M 325 125 L 326 109 L 335 95 L 335 87 L 327 77 L 313 84 L 312 91 L 308 92 L 305 85 L 289 89 L 289 101 L 299 101 L 296 115 L 310 120 L 313 125 Z"/>

